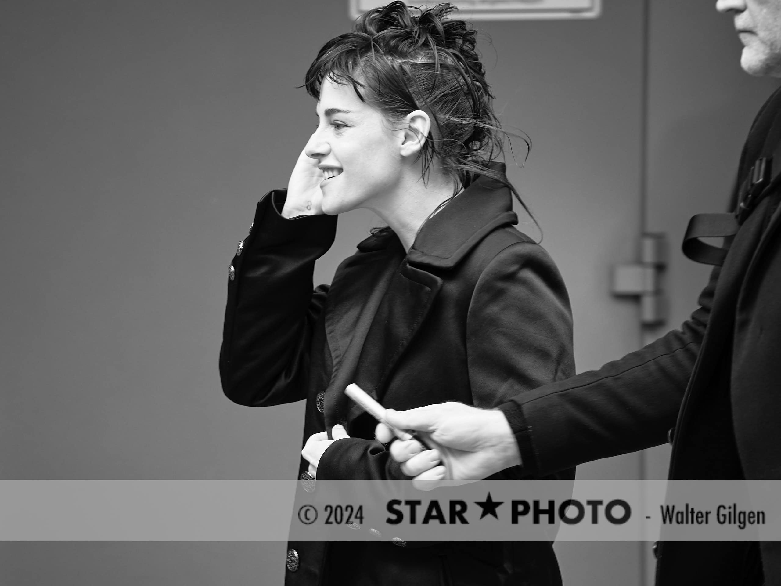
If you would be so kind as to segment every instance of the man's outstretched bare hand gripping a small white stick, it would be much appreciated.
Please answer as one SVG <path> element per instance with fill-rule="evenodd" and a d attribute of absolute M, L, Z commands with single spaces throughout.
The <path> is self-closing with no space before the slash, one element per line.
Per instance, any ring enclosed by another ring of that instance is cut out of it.
<path fill-rule="evenodd" d="M 401 471 L 415 477 L 417 488 L 430 490 L 443 481 L 479 481 L 521 463 L 518 444 L 505 414 L 497 409 L 476 409 L 449 402 L 408 411 L 387 409 L 388 423 L 404 430 L 423 432 L 435 450 L 426 450 L 415 440 L 394 441 L 391 456 Z M 377 439 L 390 441 L 391 431 L 382 423 Z M 438 463 L 444 466 L 437 466 Z"/>

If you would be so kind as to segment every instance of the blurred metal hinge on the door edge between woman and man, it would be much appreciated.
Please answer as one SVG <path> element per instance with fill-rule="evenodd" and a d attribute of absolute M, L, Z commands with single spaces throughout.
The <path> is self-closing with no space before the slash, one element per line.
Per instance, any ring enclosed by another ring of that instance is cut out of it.
<path fill-rule="evenodd" d="M 640 323 L 644 326 L 658 326 L 667 320 L 667 298 L 660 276 L 667 266 L 667 251 L 665 234 L 643 234 L 640 262 L 613 266 L 612 294 L 640 298 Z"/>

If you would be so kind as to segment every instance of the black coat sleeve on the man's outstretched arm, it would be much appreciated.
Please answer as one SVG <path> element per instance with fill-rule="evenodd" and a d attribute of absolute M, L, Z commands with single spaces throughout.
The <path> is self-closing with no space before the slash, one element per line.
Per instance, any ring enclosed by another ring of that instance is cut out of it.
<path fill-rule="evenodd" d="M 689 383 L 719 277 L 679 330 L 599 370 L 521 391 L 500 409 L 515 433 L 524 470 L 543 475 L 667 441 Z"/>

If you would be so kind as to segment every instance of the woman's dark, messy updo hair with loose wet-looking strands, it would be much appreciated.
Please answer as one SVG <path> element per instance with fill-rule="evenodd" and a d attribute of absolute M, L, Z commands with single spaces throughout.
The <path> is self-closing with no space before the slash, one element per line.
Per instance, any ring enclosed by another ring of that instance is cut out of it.
<path fill-rule="evenodd" d="M 392 123 L 423 110 L 432 120 L 419 153 L 424 180 L 437 158 L 457 190 L 483 175 L 510 188 L 526 209 L 504 175 L 489 166 L 502 152 L 505 133 L 475 49 L 476 31 L 463 20 L 448 19 L 454 10 L 448 2 L 418 9 L 398 1 L 369 10 L 351 32 L 323 45 L 304 86 L 319 99 L 326 78 L 350 84 L 362 102 Z"/>

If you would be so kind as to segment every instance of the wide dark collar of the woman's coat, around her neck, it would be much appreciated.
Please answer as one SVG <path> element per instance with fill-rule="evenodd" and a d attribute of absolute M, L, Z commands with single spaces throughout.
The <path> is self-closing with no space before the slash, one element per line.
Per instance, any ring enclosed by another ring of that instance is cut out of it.
<path fill-rule="evenodd" d="M 504 163 L 490 163 L 505 174 Z M 496 227 L 518 223 L 512 193 L 501 183 L 480 176 L 435 216 L 426 220 L 407 255 L 408 263 L 449 269 Z M 381 230 L 358 244 L 369 252 L 398 243 L 391 230 Z"/>

